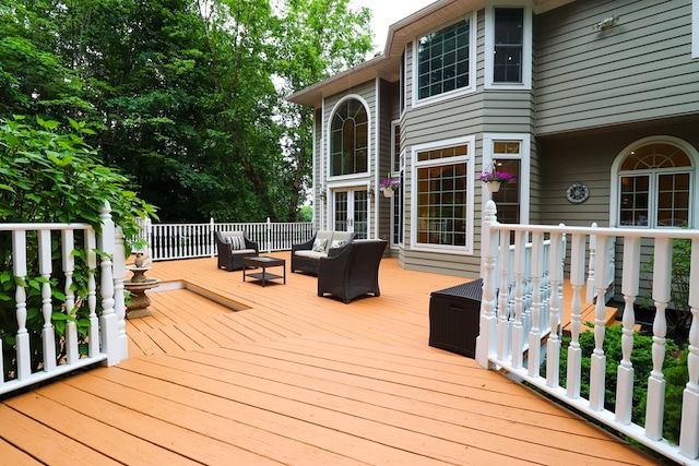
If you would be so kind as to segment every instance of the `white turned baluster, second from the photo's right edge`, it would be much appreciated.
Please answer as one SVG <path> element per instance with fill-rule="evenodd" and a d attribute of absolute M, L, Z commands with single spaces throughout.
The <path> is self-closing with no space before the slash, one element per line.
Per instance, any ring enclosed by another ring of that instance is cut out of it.
<path fill-rule="evenodd" d="M 660 440 L 663 437 L 663 411 L 665 409 L 665 335 L 667 322 L 665 309 L 670 303 L 670 277 L 672 268 L 673 242 L 670 238 L 655 238 L 653 253 L 653 370 L 648 378 L 648 405 L 645 408 L 645 437 Z"/>

